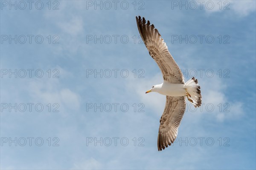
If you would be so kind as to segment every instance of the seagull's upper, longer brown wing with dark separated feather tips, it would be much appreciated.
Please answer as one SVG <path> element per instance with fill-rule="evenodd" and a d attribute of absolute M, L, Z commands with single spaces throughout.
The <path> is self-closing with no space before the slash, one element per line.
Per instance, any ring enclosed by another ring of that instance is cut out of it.
<path fill-rule="evenodd" d="M 161 38 L 157 29 L 154 28 L 153 24 L 150 25 L 149 21 L 146 23 L 144 17 L 143 19 L 141 19 L 140 16 L 139 18 L 136 17 L 136 20 L 140 36 L 142 37 L 149 54 L 161 69 L 163 80 L 170 83 L 184 84 L 183 74 L 172 58 L 166 43 L 163 41 L 163 38 Z"/>

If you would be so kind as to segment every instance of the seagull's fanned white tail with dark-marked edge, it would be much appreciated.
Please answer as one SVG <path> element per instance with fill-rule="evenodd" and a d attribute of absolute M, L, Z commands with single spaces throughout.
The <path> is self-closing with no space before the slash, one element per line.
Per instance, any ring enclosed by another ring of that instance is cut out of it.
<path fill-rule="evenodd" d="M 202 103 L 202 96 L 198 80 L 194 77 L 185 83 L 188 100 L 195 106 L 199 107 Z"/>

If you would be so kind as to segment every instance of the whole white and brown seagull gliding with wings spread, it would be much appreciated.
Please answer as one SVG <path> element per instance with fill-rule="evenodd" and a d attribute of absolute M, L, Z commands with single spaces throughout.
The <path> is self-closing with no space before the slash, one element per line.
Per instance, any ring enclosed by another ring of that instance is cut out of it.
<path fill-rule="evenodd" d="M 186 108 L 186 98 L 195 107 L 201 106 L 201 90 L 198 80 L 194 77 L 186 83 L 183 74 L 168 51 L 166 43 L 155 29 L 154 25 L 146 22 L 145 18 L 136 17 L 140 36 L 148 49 L 149 55 L 156 61 L 162 75 L 163 83 L 152 86 L 149 92 L 158 92 L 166 95 L 166 104 L 160 118 L 157 137 L 158 151 L 171 146 L 178 134 L 180 121 Z"/>

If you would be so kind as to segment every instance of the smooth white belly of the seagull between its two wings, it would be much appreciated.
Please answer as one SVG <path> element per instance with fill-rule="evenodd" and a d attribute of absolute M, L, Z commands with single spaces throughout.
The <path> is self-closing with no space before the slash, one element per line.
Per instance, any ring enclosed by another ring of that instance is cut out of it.
<path fill-rule="evenodd" d="M 164 81 L 162 88 L 159 90 L 159 93 L 162 95 L 177 97 L 177 96 L 185 96 L 186 90 L 184 88 L 184 84 L 172 84 Z"/>

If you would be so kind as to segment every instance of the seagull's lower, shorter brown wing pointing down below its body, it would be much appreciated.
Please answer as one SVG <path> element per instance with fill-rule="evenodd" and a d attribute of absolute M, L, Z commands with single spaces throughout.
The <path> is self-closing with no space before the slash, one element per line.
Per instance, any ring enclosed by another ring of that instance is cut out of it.
<path fill-rule="evenodd" d="M 160 127 L 157 137 L 158 150 L 163 150 L 175 141 L 180 121 L 184 115 L 186 100 L 184 96 L 166 96 L 166 105 L 160 118 Z"/>

